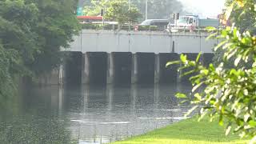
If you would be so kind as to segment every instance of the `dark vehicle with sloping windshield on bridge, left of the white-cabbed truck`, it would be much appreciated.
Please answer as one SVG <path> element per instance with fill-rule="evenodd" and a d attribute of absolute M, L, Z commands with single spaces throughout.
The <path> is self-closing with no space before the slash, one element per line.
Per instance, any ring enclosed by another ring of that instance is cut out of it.
<path fill-rule="evenodd" d="M 169 19 L 146 19 L 141 24 L 135 25 L 134 30 L 137 31 L 139 29 L 139 26 L 157 26 L 158 30 L 166 30 L 169 22 Z"/>

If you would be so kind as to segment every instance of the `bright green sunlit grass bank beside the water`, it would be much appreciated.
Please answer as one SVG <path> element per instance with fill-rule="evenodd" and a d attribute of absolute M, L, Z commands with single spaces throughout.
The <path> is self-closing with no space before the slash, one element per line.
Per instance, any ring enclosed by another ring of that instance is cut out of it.
<path fill-rule="evenodd" d="M 241 140 L 238 135 L 230 134 L 226 137 L 224 127 L 218 126 L 218 122 L 209 122 L 207 119 L 198 122 L 197 118 L 186 119 L 182 122 L 174 123 L 162 129 L 151 131 L 125 141 L 114 142 L 114 144 L 168 144 L 168 143 L 248 143 Z"/>

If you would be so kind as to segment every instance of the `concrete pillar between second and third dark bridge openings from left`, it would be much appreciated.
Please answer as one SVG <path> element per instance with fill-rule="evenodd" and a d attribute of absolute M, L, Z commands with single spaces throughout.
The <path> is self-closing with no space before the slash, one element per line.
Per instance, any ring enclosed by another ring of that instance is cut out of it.
<path fill-rule="evenodd" d="M 114 82 L 114 58 L 113 53 L 107 54 L 107 84 L 112 84 Z"/>

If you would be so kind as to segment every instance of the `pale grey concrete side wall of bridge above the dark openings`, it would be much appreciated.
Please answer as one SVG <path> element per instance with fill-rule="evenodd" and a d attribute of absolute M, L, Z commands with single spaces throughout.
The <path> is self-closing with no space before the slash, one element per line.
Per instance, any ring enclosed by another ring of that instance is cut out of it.
<path fill-rule="evenodd" d="M 70 44 L 71 51 L 141 53 L 211 53 L 217 40 L 206 33 L 82 30 Z"/>

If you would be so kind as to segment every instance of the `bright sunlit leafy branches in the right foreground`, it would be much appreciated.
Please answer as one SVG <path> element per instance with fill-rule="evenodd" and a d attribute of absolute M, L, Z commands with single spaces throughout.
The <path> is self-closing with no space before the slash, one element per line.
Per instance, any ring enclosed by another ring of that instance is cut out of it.
<path fill-rule="evenodd" d="M 241 10 L 242 19 L 247 13 L 256 14 L 254 0 L 233 0 L 226 10 L 226 19 Z M 254 17 L 255 18 L 255 17 Z M 216 31 L 216 30 L 214 30 Z M 196 61 L 190 61 L 186 55 L 181 55 L 182 63 L 179 70 L 194 68 L 186 74 L 195 74 L 190 78 L 193 96 L 177 94 L 178 98 L 186 98 L 194 109 L 200 107 L 200 114 L 218 117 L 219 124 L 226 124 L 226 134 L 230 130 L 239 133 L 242 137 L 249 136 L 256 140 L 256 36 L 249 31 L 238 30 L 237 27 L 226 27 L 225 30 L 214 32 L 210 37 L 217 35 L 222 42 L 214 48 L 222 50 L 222 62 L 214 66 L 202 66 L 200 54 Z M 234 58 L 231 67 L 224 65 Z M 241 62 L 251 64 L 239 65 Z"/>

